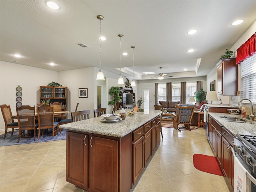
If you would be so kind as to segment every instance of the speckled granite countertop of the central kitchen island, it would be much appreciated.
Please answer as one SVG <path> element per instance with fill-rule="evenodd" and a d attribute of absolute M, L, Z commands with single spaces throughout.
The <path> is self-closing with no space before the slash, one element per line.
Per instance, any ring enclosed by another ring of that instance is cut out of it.
<path fill-rule="evenodd" d="M 144 112 L 136 112 L 134 116 L 128 116 L 126 114 L 125 120 L 118 122 L 103 122 L 101 120 L 102 117 L 96 117 L 63 124 L 60 125 L 60 128 L 121 138 L 159 116 L 161 113 L 159 110 L 145 109 Z"/>

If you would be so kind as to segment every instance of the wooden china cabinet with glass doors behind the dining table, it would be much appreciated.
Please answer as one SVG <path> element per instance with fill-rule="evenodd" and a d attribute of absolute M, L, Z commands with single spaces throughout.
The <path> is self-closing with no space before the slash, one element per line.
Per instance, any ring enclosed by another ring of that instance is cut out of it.
<path fill-rule="evenodd" d="M 62 103 L 62 111 L 66 111 L 68 104 L 67 87 L 40 86 L 40 102 L 48 99 L 50 99 L 50 103 Z"/>

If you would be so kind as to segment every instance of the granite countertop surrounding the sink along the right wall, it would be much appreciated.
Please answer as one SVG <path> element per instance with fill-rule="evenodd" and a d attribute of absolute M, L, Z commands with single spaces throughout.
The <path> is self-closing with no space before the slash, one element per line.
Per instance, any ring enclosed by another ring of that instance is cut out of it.
<path fill-rule="evenodd" d="M 233 136 L 236 134 L 241 135 L 256 135 L 256 121 L 251 121 L 245 118 L 242 118 L 242 115 L 234 115 L 228 113 L 208 113 L 214 120 L 216 120 L 220 125 L 224 126 Z M 222 117 L 228 118 L 240 118 L 246 120 L 250 123 L 240 123 L 240 122 L 229 122 L 223 120 Z"/>

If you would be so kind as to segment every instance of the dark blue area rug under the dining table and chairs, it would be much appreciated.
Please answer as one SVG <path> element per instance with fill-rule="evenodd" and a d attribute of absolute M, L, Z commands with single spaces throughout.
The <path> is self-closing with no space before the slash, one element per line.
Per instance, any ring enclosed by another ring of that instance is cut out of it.
<path fill-rule="evenodd" d="M 38 134 L 36 133 L 36 140 L 34 141 L 34 137 L 31 138 L 20 138 L 20 142 L 18 142 L 18 133 L 14 133 L 11 135 L 8 133 L 6 138 L 4 138 L 4 134 L 0 135 L 0 146 L 8 146 L 8 145 L 20 145 L 20 144 L 28 144 L 28 143 L 38 143 L 38 142 L 46 142 L 46 141 L 57 141 L 57 140 L 65 140 L 66 139 L 66 129 L 62 129 L 61 134 L 55 135 L 54 139 L 51 136 L 52 131 L 48 130 L 44 132 L 44 136 L 40 136 L 39 141 L 37 140 Z"/>

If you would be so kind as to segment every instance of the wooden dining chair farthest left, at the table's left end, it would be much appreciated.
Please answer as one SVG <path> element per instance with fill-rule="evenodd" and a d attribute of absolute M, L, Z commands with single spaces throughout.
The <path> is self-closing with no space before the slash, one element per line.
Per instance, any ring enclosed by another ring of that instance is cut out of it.
<path fill-rule="evenodd" d="M 8 128 L 12 128 L 12 134 L 14 132 L 19 132 L 18 129 L 14 129 L 14 128 L 19 128 L 18 122 L 14 122 L 14 120 L 12 119 L 12 110 L 10 105 L 1 105 L 1 111 L 2 111 L 2 115 L 4 118 L 4 124 L 5 124 L 5 131 L 4 131 L 4 139 L 6 137 L 6 134 L 8 132 Z"/>

